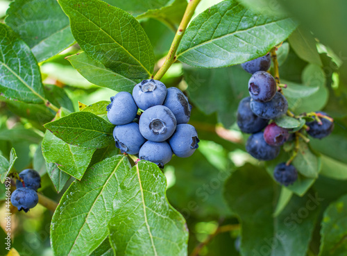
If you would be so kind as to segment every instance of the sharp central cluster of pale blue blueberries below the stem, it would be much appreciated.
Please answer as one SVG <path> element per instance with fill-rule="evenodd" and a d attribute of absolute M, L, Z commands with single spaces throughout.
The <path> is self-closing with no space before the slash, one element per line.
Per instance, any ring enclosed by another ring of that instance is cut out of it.
<path fill-rule="evenodd" d="M 108 120 L 116 125 L 113 137 L 121 153 L 137 155 L 160 168 L 173 153 L 189 157 L 198 148 L 198 134 L 194 126 L 187 124 L 191 110 L 180 89 L 167 89 L 153 79 L 135 85 L 133 95 L 117 93 L 107 107 Z"/>

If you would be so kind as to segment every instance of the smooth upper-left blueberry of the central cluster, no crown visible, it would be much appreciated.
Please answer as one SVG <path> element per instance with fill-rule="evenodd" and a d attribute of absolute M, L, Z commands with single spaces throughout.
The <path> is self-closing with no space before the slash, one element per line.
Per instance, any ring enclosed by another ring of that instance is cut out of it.
<path fill-rule="evenodd" d="M 107 107 L 108 120 L 115 124 L 121 125 L 133 121 L 137 114 L 137 105 L 128 92 L 119 92 L 116 96 L 111 97 L 111 103 Z"/>

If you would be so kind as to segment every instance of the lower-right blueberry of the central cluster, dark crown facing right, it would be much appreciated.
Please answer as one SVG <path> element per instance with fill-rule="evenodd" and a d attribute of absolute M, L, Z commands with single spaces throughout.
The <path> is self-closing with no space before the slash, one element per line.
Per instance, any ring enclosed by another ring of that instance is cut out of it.
<path fill-rule="evenodd" d="M 198 148 L 198 133 L 194 126 L 187 123 L 178 124 L 174 135 L 169 139 L 172 151 L 178 157 L 189 157 Z"/>

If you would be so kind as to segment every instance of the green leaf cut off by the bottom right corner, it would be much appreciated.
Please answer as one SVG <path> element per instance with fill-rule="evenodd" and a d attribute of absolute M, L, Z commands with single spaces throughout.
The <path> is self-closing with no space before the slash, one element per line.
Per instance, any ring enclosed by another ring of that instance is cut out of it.
<path fill-rule="evenodd" d="M 347 251 L 347 195 L 325 210 L 321 228 L 319 256 L 344 256 Z"/>

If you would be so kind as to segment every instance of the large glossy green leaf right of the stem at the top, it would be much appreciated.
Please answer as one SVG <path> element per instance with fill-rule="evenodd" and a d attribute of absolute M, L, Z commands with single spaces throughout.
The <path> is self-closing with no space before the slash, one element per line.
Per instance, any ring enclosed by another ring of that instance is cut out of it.
<path fill-rule="evenodd" d="M 295 28 L 290 18 L 257 15 L 237 1 L 222 1 L 193 20 L 177 57 L 194 67 L 240 64 L 264 56 Z"/>

